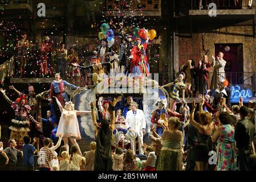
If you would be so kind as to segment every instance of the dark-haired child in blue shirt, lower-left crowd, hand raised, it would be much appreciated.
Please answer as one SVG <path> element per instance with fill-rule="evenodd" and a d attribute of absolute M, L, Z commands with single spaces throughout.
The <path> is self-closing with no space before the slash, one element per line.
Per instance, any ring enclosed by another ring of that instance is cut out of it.
<path fill-rule="evenodd" d="M 37 152 L 35 147 L 30 144 L 31 138 L 26 135 L 24 138 L 23 150 L 23 168 L 24 171 L 34 171 L 34 154 Z M 33 139 L 33 144 L 36 142 L 36 138 Z M 39 148 L 39 143 L 38 143 Z"/>

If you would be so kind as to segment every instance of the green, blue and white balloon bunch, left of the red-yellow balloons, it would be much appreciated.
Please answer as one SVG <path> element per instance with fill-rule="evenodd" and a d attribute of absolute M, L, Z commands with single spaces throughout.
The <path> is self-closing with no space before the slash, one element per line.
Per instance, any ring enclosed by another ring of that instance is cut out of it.
<path fill-rule="evenodd" d="M 115 43 L 115 35 L 112 29 L 109 29 L 109 25 L 107 23 L 103 23 L 100 26 L 101 32 L 99 32 L 99 39 L 107 39 L 108 46 L 111 47 Z"/>

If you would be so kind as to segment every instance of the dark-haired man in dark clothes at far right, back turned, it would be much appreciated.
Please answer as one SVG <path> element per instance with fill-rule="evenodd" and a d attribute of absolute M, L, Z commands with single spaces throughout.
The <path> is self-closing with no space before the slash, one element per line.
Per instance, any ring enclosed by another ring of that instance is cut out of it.
<path fill-rule="evenodd" d="M 237 163 L 239 171 L 250 171 L 249 156 L 253 154 L 252 142 L 255 136 L 255 127 L 247 118 L 249 109 L 242 106 L 239 109 L 241 120 L 235 128 L 235 141 L 237 142 Z"/>

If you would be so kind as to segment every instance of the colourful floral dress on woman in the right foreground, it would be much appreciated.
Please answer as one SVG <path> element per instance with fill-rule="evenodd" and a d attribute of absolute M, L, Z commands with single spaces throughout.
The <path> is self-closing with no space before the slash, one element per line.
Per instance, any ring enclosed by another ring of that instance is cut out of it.
<path fill-rule="evenodd" d="M 220 127 L 221 134 L 217 140 L 217 170 L 234 171 L 236 168 L 234 127 L 231 125 Z"/>

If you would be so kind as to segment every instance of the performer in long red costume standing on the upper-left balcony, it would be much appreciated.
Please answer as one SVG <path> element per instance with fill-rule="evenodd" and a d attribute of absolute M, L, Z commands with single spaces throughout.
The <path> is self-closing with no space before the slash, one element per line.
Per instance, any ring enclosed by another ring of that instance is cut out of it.
<path fill-rule="evenodd" d="M 52 76 L 52 44 L 50 42 L 49 36 L 44 37 L 44 41 L 41 44 L 41 63 L 40 71 L 43 76 Z"/>

